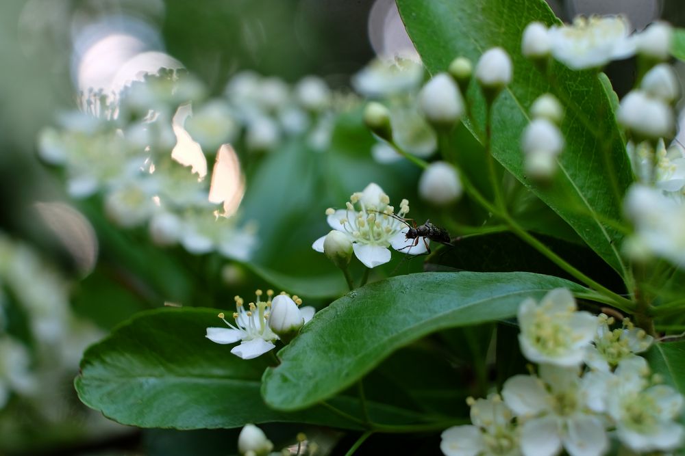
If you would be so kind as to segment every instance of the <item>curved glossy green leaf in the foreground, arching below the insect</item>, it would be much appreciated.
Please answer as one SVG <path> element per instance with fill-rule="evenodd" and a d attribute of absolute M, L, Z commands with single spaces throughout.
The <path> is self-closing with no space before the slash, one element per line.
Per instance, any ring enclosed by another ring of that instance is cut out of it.
<path fill-rule="evenodd" d="M 560 286 L 585 290 L 532 273 L 418 273 L 366 285 L 319 311 L 278 353 L 282 362 L 264 373 L 262 395 L 278 410 L 308 407 L 399 347 L 448 327 L 513 317 L 526 297 Z"/>

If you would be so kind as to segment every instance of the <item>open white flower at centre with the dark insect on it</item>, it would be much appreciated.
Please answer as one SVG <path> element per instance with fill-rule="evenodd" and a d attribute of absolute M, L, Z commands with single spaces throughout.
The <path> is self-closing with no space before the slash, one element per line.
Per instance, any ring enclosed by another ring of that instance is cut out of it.
<path fill-rule="evenodd" d="M 407 239 L 409 228 L 396 217 L 409 212 L 409 203 L 402 200 L 399 212 L 395 215 L 390 198 L 375 183 L 366 186 L 364 191 L 353 193 L 347 202 L 347 209 L 328 209 L 327 222 L 331 228 L 345 233 L 352 241 L 355 256 L 366 267 L 376 267 L 390 261 L 390 245 L 400 252 L 419 255 L 427 252 L 427 239 Z M 355 209 L 357 206 L 358 209 Z M 314 241 L 312 248 L 323 252 L 325 236 Z"/>

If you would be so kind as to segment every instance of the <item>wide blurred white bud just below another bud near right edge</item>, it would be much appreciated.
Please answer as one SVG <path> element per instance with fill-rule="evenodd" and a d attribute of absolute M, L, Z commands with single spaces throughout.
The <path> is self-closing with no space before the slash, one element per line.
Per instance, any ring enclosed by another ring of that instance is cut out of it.
<path fill-rule="evenodd" d="M 667 137 L 673 131 L 673 111 L 669 105 L 641 90 L 623 97 L 616 119 L 638 139 Z"/>

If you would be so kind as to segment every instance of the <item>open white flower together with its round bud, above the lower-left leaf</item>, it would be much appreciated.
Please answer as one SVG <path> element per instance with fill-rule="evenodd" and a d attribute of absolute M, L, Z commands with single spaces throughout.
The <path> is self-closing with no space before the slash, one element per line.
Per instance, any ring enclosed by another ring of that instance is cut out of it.
<path fill-rule="evenodd" d="M 314 317 L 313 307 L 299 308 L 302 300 L 296 295 L 290 297 L 283 292 L 274 297 L 273 290 L 266 290 L 266 301 L 262 301 L 264 293 L 257 290 L 255 294 L 256 301 L 249 303 L 247 309 L 242 297 L 235 297 L 235 325 L 229 323 L 221 312 L 219 318 L 228 328 L 207 328 L 206 338 L 214 343 L 233 344 L 240 341 L 240 345 L 233 347 L 231 353 L 243 360 L 257 358 L 274 349 L 276 340 L 287 342 Z"/>

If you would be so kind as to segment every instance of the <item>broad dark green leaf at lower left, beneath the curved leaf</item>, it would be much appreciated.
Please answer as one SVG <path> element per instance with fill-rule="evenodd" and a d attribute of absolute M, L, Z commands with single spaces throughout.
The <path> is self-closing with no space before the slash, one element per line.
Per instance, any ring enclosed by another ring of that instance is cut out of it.
<path fill-rule="evenodd" d="M 217 323 L 216 310 L 202 308 L 136 315 L 86 351 L 75 380 L 79 399 L 112 420 L 138 427 L 215 429 L 286 421 L 358 429 L 322 406 L 297 413 L 267 407 L 259 390 L 269 357 L 242 360 L 231 347 L 212 343 L 205 329 Z M 338 397 L 331 404 L 360 414 L 356 398 Z M 371 403 L 369 409 L 390 423 L 418 419 L 393 405 Z"/>

